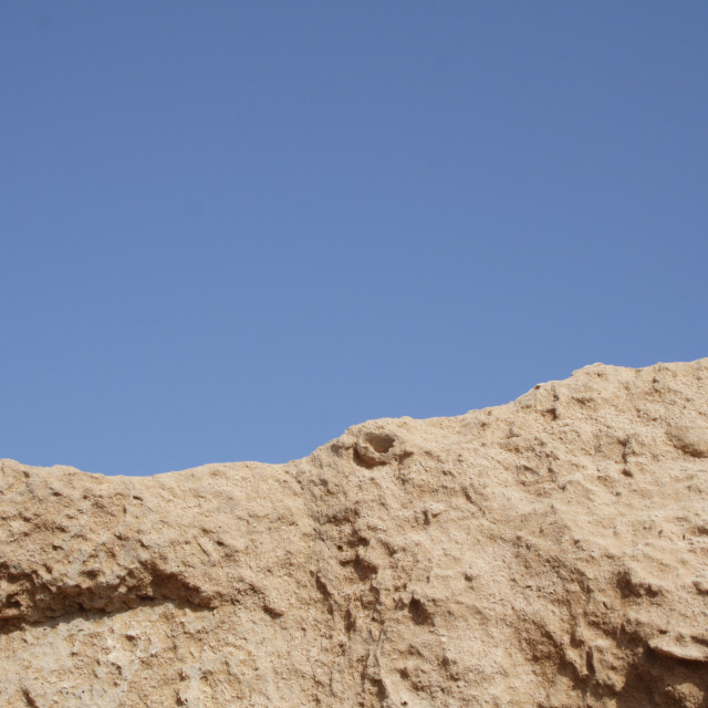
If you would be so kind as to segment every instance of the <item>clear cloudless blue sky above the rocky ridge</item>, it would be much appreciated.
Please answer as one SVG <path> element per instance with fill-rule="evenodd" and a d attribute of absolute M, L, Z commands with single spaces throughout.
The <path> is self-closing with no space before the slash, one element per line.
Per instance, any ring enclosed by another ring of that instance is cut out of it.
<path fill-rule="evenodd" d="M 0 457 L 305 456 L 708 355 L 708 3 L 6 0 Z"/>

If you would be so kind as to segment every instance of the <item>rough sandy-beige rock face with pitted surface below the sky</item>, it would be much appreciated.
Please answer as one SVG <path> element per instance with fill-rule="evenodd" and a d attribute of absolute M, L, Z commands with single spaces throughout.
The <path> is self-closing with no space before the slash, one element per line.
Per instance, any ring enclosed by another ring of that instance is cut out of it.
<path fill-rule="evenodd" d="M 2 706 L 708 706 L 708 360 L 0 517 Z"/>

